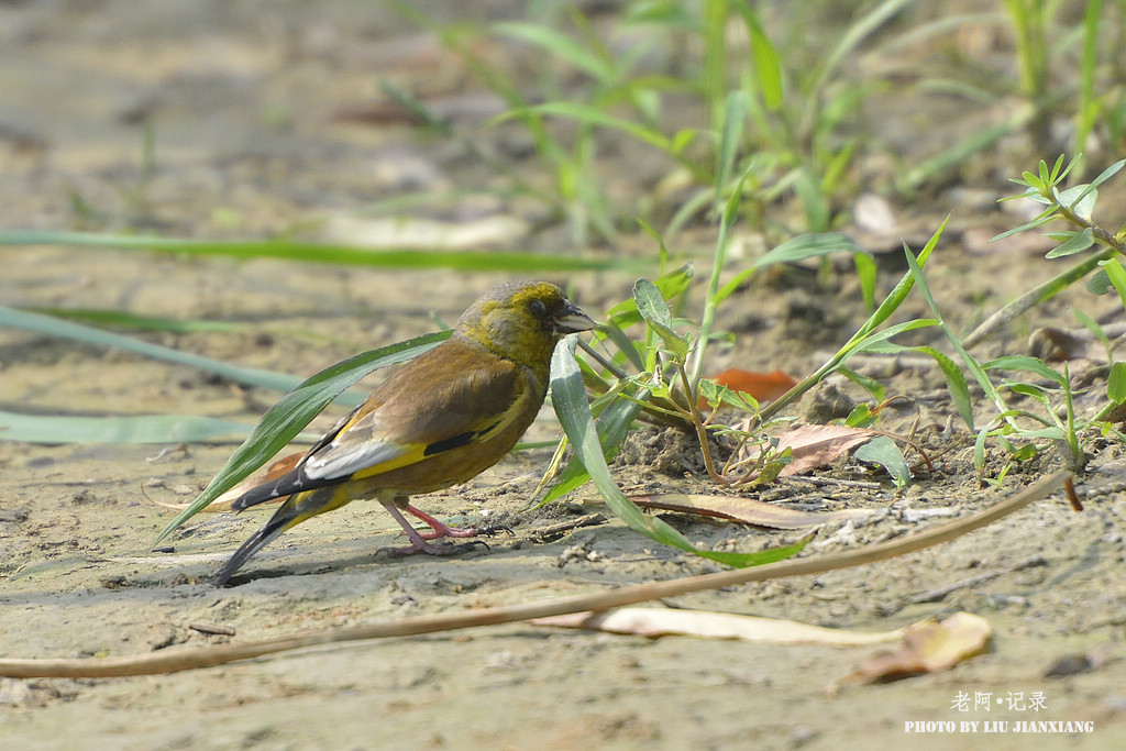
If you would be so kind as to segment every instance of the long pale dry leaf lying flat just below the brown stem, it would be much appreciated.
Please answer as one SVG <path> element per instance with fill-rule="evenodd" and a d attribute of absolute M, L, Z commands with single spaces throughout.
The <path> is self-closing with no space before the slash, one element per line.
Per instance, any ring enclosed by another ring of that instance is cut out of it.
<path fill-rule="evenodd" d="M 740 616 L 708 610 L 670 608 L 618 608 L 599 613 L 573 613 L 530 620 L 536 626 L 588 628 L 635 636 L 701 636 L 738 638 L 766 644 L 822 644 L 826 646 L 867 646 L 903 637 L 906 629 L 870 633 L 811 626 L 796 620 Z"/>

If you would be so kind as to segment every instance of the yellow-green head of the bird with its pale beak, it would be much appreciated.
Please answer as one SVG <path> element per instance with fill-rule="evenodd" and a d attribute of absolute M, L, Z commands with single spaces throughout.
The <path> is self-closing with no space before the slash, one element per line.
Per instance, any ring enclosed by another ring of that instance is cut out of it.
<path fill-rule="evenodd" d="M 459 333 L 545 378 L 558 340 L 593 328 L 595 322 L 549 281 L 498 285 L 457 320 Z"/>

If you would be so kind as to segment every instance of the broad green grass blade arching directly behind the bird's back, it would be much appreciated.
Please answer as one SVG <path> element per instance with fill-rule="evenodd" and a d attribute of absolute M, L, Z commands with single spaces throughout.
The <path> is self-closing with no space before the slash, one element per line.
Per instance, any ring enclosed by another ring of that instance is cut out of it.
<path fill-rule="evenodd" d="M 449 339 L 452 333 L 438 331 L 361 352 L 303 381 L 262 415 L 250 437 L 235 449 L 218 474 L 212 477 L 204 492 L 164 527 L 153 545 L 274 458 L 345 388 L 381 367 L 421 355 Z"/>

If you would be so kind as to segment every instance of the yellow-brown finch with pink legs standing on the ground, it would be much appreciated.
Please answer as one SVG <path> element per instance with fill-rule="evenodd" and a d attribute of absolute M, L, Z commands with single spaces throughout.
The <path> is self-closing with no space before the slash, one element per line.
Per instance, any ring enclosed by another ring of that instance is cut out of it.
<path fill-rule="evenodd" d="M 492 287 L 457 320 L 449 339 L 408 361 L 337 422 L 284 474 L 241 492 L 241 511 L 286 498 L 213 578 L 216 587 L 278 535 L 357 499 L 375 499 L 410 546 L 394 554 L 445 555 L 461 546 L 449 527 L 410 497 L 464 483 L 497 464 L 531 424 L 547 394 L 552 352 L 564 336 L 596 323 L 549 281 Z M 280 463 L 279 463 L 280 464 Z M 403 511 L 432 531 L 419 533 Z"/>

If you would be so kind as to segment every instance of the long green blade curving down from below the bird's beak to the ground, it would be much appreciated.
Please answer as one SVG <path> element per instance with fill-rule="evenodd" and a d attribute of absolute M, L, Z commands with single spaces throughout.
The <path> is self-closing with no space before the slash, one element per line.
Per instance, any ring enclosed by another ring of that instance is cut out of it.
<path fill-rule="evenodd" d="M 631 529 L 640 531 L 653 540 L 731 566 L 771 563 L 787 558 L 802 549 L 806 540 L 749 554 L 699 549 L 667 522 L 642 512 L 633 501 L 626 498 L 617 483 L 614 482 L 614 477 L 610 476 L 610 470 L 599 444 L 598 431 L 595 428 L 593 418 L 590 415 L 590 405 L 587 402 L 587 392 L 582 385 L 582 374 L 575 363 L 574 350 L 575 334 L 572 334 L 560 342 L 552 356 L 552 405 L 555 408 L 555 414 L 558 417 L 568 439 L 574 447 L 575 455 L 587 468 L 595 486 L 598 488 L 599 493 L 615 516 L 626 522 Z"/>

